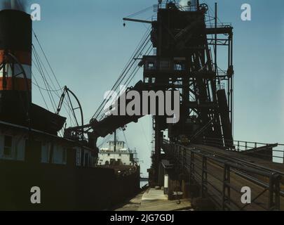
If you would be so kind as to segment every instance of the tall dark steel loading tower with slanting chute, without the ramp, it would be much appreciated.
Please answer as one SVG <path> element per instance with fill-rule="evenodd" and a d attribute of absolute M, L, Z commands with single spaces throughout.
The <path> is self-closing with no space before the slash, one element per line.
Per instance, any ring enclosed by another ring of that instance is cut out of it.
<path fill-rule="evenodd" d="M 216 7 L 217 8 L 217 7 Z M 159 3 L 157 19 L 153 21 L 124 18 L 124 20 L 151 23 L 151 42 L 155 56 L 143 56 L 142 82 L 126 92 L 135 90 L 180 91 L 180 121 L 168 124 L 165 116 L 154 115 L 155 152 L 153 165 L 155 179 L 161 160 L 163 131 L 168 129 L 170 141 L 200 143 L 204 138 L 219 140 L 226 148 L 232 147 L 233 122 L 233 28 L 208 17 L 208 6 L 199 4 L 180 7 L 175 1 Z M 208 19 L 209 18 L 209 19 Z M 209 20 L 209 23 L 208 23 Z M 210 25 L 210 22 L 213 24 Z M 217 66 L 217 47 L 227 48 L 227 68 Z M 120 99 L 118 99 L 118 104 Z M 67 129 L 88 133 L 90 145 L 97 138 L 111 134 L 142 116 L 111 115 L 103 120 Z"/>

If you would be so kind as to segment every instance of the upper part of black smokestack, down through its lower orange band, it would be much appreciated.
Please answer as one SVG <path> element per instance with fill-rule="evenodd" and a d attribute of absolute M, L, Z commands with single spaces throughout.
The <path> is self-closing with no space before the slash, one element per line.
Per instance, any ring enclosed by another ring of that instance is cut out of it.
<path fill-rule="evenodd" d="M 8 56 L 13 54 L 25 70 Z M 0 11 L 0 91 L 32 89 L 32 19 L 22 11 Z"/>

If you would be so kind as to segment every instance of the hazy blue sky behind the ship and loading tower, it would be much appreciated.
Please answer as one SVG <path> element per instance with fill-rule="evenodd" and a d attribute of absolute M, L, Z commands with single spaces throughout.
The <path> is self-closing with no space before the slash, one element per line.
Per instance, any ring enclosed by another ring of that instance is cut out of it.
<path fill-rule="evenodd" d="M 29 1 L 32 2 L 32 1 Z M 215 0 L 206 1 L 211 8 Z M 284 143 L 284 1 L 219 0 L 219 19 L 234 26 L 234 138 Z M 122 18 L 155 0 L 38 0 L 41 21 L 34 30 L 60 81 L 79 96 L 86 118 L 114 84 L 147 26 Z M 241 20 L 251 4 L 252 21 Z M 141 15 L 149 18 L 152 11 Z M 226 68 L 224 68 L 226 69 Z M 137 80 L 142 79 L 141 73 Z M 34 87 L 34 102 L 43 105 Z M 142 172 L 150 165 L 151 120 L 128 125 L 130 148 L 137 148 Z M 121 136 L 123 139 L 123 136 Z"/>

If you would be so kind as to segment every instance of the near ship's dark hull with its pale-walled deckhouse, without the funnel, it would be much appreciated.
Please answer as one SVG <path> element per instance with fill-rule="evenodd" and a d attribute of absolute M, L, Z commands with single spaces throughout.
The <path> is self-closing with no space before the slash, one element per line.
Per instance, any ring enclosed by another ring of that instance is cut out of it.
<path fill-rule="evenodd" d="M 0 125 L 6 135 L 30 136 L 23 143 L 23 153 L 18 150 L 11 158 L 0 159 L 0 210 L 107 210 L 140 191 L 140 167 L 126 167 L 122 174 L 112 167 L 93 167 L 90 149 L 75 141 L 3 122 Z M 42 143 L 48 142 L 62 146 L 65 159 L 56 160 L 58 153 L 54 153 L 47 162 Z M 85 157 L 80 159 L 81 155 Z M 40 188 L 40 204 L 31 202 L 34 186 Z"/>

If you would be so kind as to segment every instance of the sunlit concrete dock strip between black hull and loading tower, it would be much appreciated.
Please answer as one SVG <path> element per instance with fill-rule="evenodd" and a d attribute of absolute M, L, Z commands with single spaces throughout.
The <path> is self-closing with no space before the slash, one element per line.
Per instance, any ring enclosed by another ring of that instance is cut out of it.
<path fill-rule="evenodd" d="M 115 211 L 177 211 L 191 210 L 189 199 L 168 200 L 162 190 L 148 188 L 146 191 L 130 199 Z"/>

